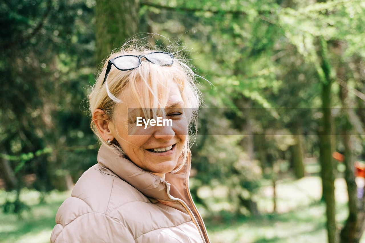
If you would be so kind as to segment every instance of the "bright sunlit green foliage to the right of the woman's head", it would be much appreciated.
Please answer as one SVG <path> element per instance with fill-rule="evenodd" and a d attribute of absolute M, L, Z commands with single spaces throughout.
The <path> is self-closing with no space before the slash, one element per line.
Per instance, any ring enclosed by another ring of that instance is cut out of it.
<path fill-rule="evenodd" d="M 308 135 L 305 153 L 318 156 L 321 83 L 337 81 L 339 68 L 347 70 L 351 59 L 363 57 L 364 4 L 350 0 L 142 3 L 144 22 L 151 23 L 154 32 L 186 43 L 190 50 L 183 52 L 199 75 L 212 83 L 213 87 L 201 80 L 206 107 L 230 109 L 228 113 L 201 110 L 197 148 L 192 148 L 197 171 L 192 191 L 209 211 L 213 202 L 219 203 L 213 191 L 220 185 L 230 191 L 228 201 L 237 203 L 225 210 L 239 211 L 239 198 L 252 197 L 260 184 L 260 177 L 256 181 L 245 172 L 260 165 L 259 175 L 275 178 L 275 167 L 281 171 L 292 161 L 288 148 L 296 141 L 293 135 Z M 363 64 L 353 66 L 364 70 Z M 357 77 L 360 85 L 364 74 Z M 339 105 L 336 97 L 331 98 L 334 107 Z M 249 136 L 255 136 L 254 160 L 247 159 Z M 199 191 L 202 187 L 204 193 Z"/>

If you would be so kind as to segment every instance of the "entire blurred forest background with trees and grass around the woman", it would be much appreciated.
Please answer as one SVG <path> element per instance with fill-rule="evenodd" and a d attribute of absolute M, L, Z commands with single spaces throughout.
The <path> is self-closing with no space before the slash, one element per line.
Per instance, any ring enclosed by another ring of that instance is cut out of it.
<path fill-rule="evenodd" d="M 49 240 L 96 163 L 99 65 L 168 44 L 148 33 L 213 85 L 191 175 L 212 242 L 365 242 L 364 0 L 4 0 L 0 25 L 0 242 Z"/>

